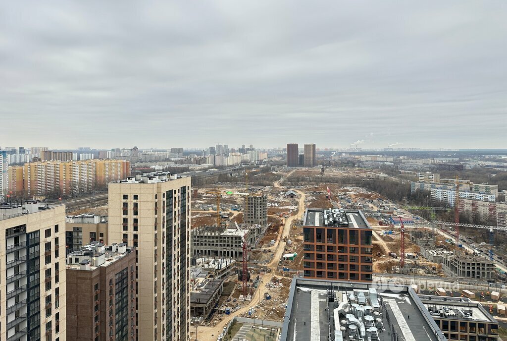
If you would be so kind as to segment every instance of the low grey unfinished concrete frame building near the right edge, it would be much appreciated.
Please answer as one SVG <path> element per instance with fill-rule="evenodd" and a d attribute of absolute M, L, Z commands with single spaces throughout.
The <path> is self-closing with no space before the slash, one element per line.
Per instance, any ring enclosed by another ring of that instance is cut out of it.
<path fill-rule="evenodd" d="M 491 280 L 495 276 L 495 264 L 484 257 L 457 253 L 443 257 L 442 269 L 450 277 Z"/>

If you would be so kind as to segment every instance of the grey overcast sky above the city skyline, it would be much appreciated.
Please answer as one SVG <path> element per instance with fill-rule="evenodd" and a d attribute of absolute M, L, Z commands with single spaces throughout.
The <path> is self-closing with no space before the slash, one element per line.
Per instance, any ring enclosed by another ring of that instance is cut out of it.
<path fill-rule="evenodd" d="M 0 5 L 0 146 L 507 148 L 505 1 Z"/>

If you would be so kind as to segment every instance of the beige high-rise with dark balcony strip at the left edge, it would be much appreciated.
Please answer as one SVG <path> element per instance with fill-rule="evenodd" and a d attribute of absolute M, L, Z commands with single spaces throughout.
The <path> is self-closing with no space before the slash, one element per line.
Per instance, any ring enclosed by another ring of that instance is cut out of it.
<path fill-rule="evenodd" d="M 66 339 L 64 226 L 63 205 L 0 204 L 0 339 Z"/>

